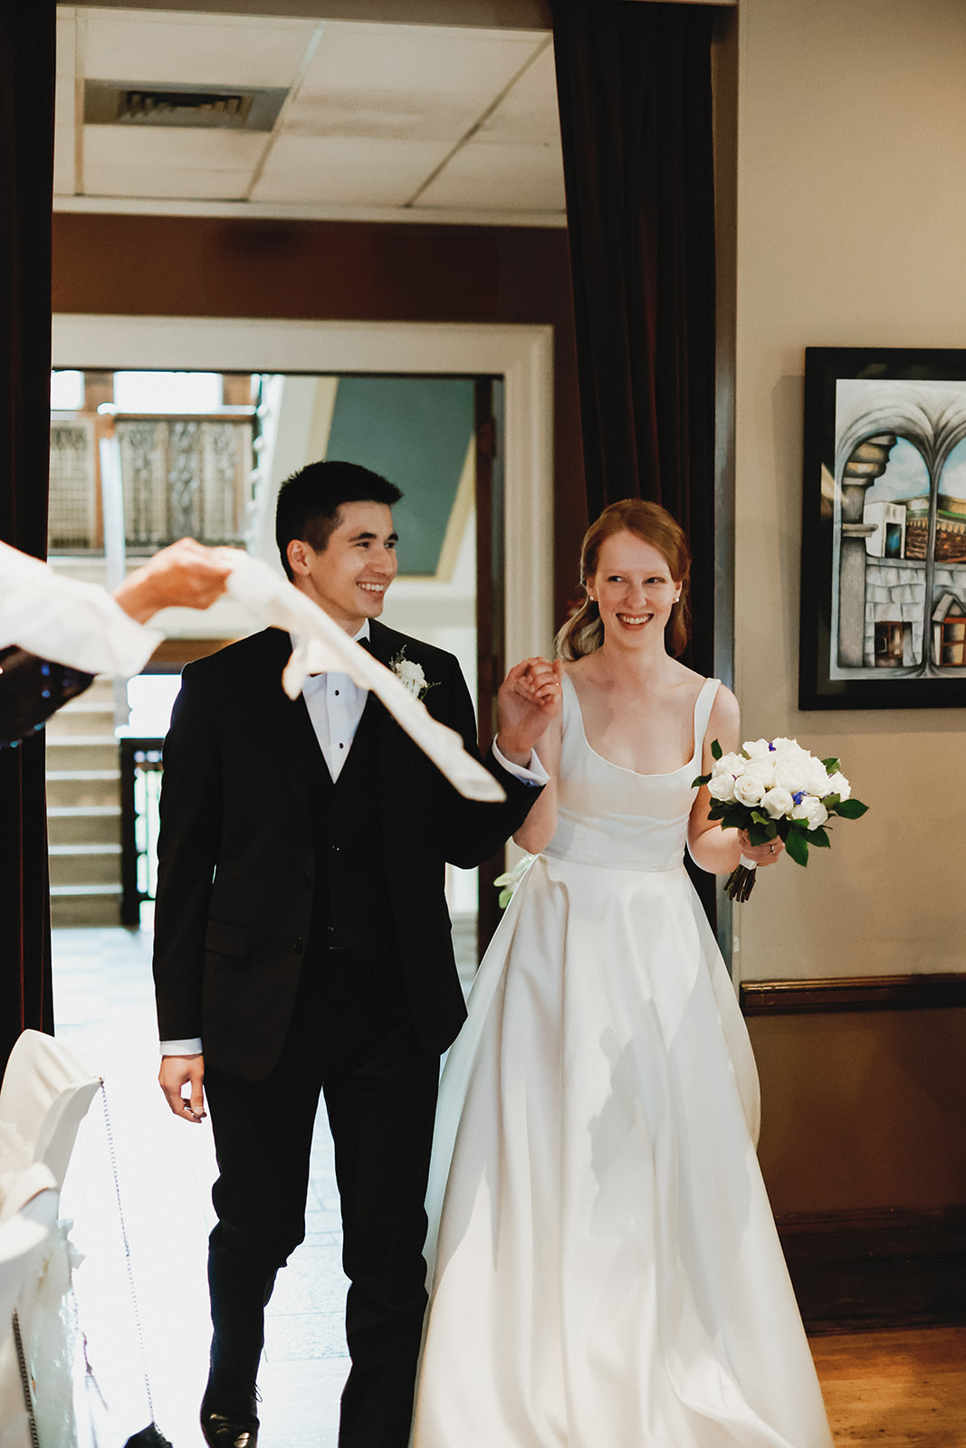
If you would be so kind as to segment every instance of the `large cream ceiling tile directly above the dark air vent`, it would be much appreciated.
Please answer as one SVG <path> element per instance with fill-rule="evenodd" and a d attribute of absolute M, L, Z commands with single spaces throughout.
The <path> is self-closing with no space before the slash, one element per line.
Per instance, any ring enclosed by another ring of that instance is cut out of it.
<path fill-rule="evenodd" d="M 140 85 L 291 85 L 316 22 L 83 10 L 85 74 Z"/>

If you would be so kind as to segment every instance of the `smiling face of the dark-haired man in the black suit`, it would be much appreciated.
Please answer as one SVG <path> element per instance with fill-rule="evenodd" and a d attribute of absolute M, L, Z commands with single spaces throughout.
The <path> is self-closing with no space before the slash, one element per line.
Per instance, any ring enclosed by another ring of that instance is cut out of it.
<path fill-rule="evenodd" d="M 395 578 L 395 530 L 384 502 L 343 502 L 322 553 L 294 539 L 288 544 L 293 582 L 330 618 L 355 634 L 382 613 Z"/>

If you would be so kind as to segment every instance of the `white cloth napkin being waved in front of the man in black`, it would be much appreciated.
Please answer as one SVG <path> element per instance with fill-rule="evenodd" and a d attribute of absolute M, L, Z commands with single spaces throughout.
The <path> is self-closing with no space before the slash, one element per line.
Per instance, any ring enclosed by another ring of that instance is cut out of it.
<path fill-rule="evenodd" d="M 406 730 L 461 795 L 488 802 L 505 799 L 505 792 L 490 770 L 466 753 L 456 730 L 434 720 L 391 669 L 361 649 L 329 614 L 293 584 L 278 578 L 266 563 L 246 553 L 230 552 L 233 566 L 227 581 L 229 594 L 262 623 L 288 630 L 295 641 L 282 672 L 282 688 L 290 699 L 298 696 L 310 673 L 326 673 L 330 669 L 348 673 L 355 683 L 379 698 L 400 728 Z"/>

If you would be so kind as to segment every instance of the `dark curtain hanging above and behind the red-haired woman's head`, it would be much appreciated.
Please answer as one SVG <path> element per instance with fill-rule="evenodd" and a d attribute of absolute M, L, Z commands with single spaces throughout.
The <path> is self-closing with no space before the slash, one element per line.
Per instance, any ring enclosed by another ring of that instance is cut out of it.
<path fill-rule="evenodd" d="M 694 553 L 689 662 L 713 668 L 713 12 L 553 0 L 588 515 L 663 504 Z"/>

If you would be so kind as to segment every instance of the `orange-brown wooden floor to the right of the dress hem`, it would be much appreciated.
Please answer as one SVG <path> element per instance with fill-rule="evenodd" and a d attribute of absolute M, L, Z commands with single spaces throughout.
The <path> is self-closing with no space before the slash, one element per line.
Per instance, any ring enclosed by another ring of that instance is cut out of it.
<path fill-rule="evenodd" d="M 836 1448 L 966 1448 L 966 1326 L 811 1338 Z"/>

